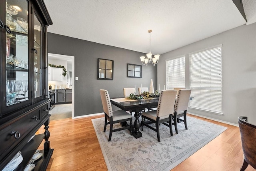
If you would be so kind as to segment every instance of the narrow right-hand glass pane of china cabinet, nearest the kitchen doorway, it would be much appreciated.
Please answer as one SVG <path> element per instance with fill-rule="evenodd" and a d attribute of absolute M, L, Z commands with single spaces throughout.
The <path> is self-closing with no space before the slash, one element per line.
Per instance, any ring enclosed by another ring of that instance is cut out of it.
<path fill-rule="evenodd" d="M 34 15 L 34 95 L 42 96 L 42 24 Z"/>

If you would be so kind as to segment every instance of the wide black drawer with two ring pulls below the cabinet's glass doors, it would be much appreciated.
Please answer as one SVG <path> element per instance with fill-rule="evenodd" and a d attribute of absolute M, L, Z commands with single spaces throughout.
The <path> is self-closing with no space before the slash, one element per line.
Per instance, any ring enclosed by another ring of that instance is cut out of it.
<path fill-rule="evenodd" d="M 26 135 L 30 132 L 30 129 L 40 122 L 41 108 L 32 111 L 28 115 L 20 118 L 18 121 L 8 125 L 0 131 L 0 155 L 4 157 L 2 153 L 8 154 Z M 13 135 L 12 135 L 13 134 Z M 15 138 L 16 136 L 16 138 Z M 2 158 L 0 159 L 2 160 Z"/>

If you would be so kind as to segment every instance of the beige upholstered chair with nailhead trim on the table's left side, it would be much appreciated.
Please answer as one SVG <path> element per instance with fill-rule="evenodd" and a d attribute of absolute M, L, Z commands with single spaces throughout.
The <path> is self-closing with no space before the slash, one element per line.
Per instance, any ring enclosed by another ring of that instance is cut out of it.
<path fill-rule="evenodd" d="M 102 101 L 103 110 L 105 113 L 105 123 L 104 123 L 104 131 L 106 131 L 106 127 L 109 124 L 110 125 L 110 131 L 109 131 L 109 137 L 108 141 L 111 140 L 112 132 L 120 131 L 123 129 L 130 129 L 130 134 L 132 135 L 132 115 L 127 113 L 124 110 L 116 110 L 112 111 L 112 106 L 110 102 L 110 97 L 108 95 L 108 91 L 105 89 L 100 89 L 100 97 Z M 109 122 L 107 122 L 109 121 Z M 114 123 L 120 123 L 124 121 L 130 121 L 129 126 L 120 127 L 117 129 L 113 129 Z"/>

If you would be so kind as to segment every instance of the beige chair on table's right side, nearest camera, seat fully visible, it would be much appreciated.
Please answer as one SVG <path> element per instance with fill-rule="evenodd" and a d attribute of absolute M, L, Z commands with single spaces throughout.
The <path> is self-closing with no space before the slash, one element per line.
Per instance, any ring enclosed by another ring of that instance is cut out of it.
<path fill-rule="evenodd" d="M 174 103 L 176 98 L 176 90 L 163 90 L 160 92 L 160 97 L 158 101 L 157 110 L 147 111 L 142 113 L 141 130 L 143 131 L 143 126 L 156 131 L 157 141 L 160 142 L 159 126 L 160 123 L 166 125 L 170 129 L 170 134 L 172 133 L 172 113 L 174 112 Z M 144 118 L 149 121 L 145 122 Z M 167 121 L 170 123 L 168 124 Z M 156 129 L 150 126 L 150 123 L 156 124 Z"/>

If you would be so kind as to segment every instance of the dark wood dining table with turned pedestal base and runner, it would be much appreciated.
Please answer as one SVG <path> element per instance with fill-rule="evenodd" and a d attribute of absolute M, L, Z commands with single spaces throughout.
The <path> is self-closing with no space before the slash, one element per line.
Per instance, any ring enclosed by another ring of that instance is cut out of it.
<path fill-rule="evenodd" d="M 193 97 L 190 97 L 190 100 Z M 140 132 L 140 121 L 139 121 L 139 117 L 141 115 L 141 112 L 147 108 L 154 108 L 157 107 L 158 105 L 158 100 L 159 97 L 156 98 L 150 98 L 150 99 L 138 99 L 138 100 L 133 100 L 133 99 L 127 99 L 126 97 L 115 97 L 115 98 L 111 98 L 110 102 L 111 104 L 115 105 L 116 107 L 119 107 L 120 109 L 124 110 L 124 111 L 134 111 L 134 117 L 135 117 L 135 121 L 134 121 L 134 130 L 132 131 L 132 135 L 135 138 L 139 138 L 142 137 L 142 133 Z M 124 123 L 125 125 L 127 123 Z M 121 123 L 122 125 L 122 123 Z"/>

